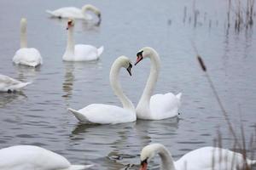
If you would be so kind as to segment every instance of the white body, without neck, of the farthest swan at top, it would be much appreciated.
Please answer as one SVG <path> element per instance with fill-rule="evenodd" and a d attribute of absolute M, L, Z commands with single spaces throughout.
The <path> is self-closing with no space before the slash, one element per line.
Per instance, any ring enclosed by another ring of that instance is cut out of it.
<path fill-rule="evenodd" d="M 84 14 L 82 14 L 81 9 L 75 7 L 58 8 L 54 11 L 46 10 L 46 12 L 51 14 L 52 17 L 84 19 Z"/>

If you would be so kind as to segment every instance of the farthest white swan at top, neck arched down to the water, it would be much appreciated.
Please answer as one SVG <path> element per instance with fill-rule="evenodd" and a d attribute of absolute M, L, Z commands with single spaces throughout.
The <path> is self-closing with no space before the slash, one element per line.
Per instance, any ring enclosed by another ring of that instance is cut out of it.
<path fill-rule="evenodd" d="M 91 11 L 94 14 L 96 14 L 99 18 L 98 24 L 101 23 L 101 11 L 91 4 L 86 4 L 82 8 L 64 7 L 55 9 L 54 11 L 46 10 L 46 12 L 50 14 L 52 17 L 56 17 L 59 19 L 73 18 L 79 20 L 92 20 L 92 16 L 90 14 L 86 14 L 87 11 Z"/>

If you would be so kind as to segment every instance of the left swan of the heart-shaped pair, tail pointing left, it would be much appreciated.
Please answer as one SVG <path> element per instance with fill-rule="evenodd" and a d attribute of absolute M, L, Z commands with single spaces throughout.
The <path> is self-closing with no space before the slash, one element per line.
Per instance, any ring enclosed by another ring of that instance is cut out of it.
<path fill-rule="evenodd" d="M 120 56 L 115 59 L 109 73 L 110 85 L 113 88 L 114 94 L 120 99 L 123 108 L 116 105 L 103 105 L 103 104 L 91 104 L 83 109 L 76 111 L 68 108 L 79 122 L 91 122 L 99 124 L 116 124 L 123 122 L 135 122 L 136 113 L 134 105 L 131 100 L 128 99 L 119 83 L 119 71 L 121 67 L 125 69 L 131 75 L 131 61 L 125 56 Z"/>

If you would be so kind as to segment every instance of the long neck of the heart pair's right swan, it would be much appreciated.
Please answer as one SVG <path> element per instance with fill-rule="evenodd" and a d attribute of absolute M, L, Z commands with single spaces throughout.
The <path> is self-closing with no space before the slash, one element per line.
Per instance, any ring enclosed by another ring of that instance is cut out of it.
<path fill-rule="evenodd" d="M 155 51 L 152 51 L 148 57 L 150 59 L 150 74 L 139 103 L 143 102 L 149 106 L 149 101 L 154 91 L 154 85 L 159 75 L 160 57 Z"/>

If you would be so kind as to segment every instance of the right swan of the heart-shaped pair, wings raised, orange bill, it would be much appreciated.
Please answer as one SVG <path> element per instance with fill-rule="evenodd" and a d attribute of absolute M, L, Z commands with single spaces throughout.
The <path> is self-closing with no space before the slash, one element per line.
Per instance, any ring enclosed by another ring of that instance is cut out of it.
<path fill-rule="evenodd" d="M 146 120 L 161 120 L 178 115 L 182 94 L 153 94 L 154 85 L 160 71 L 160 57 L 154 48 L 144 47 L 137 53 L 137 65 L 142 59 L 149 58 L 150 74 L 143 95 L 136 108 L 137 118 Z"/>

